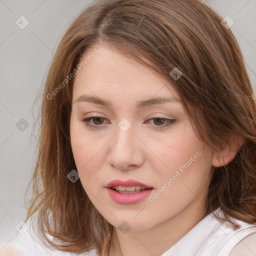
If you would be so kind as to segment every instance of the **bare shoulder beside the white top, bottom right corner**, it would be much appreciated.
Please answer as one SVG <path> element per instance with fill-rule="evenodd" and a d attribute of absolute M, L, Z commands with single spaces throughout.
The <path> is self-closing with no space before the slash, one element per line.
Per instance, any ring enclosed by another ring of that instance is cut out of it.
<path fill-rule="evenodd" d="M 255 256 L 256 255 L 256 233 L 252 233 L 241 239 L 232 249 L 229 256 Z"/>

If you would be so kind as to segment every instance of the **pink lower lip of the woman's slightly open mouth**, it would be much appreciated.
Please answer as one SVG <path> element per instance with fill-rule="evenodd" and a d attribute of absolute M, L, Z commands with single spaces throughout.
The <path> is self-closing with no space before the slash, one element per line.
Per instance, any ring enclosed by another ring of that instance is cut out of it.
<path fill-rule="evenodd" d="M 149 195 L 153 188 L 149 188 L 137 193 L 118 193 L 111 188 L 107 188 L 107 190 L 114 201 L 122 204 L 132 204 L 142 200 L 144 197 Z"/>

